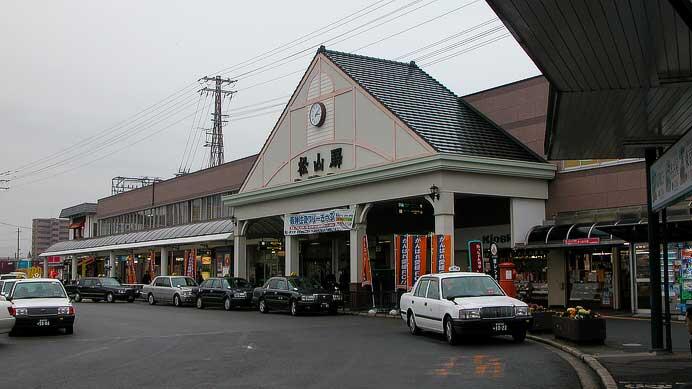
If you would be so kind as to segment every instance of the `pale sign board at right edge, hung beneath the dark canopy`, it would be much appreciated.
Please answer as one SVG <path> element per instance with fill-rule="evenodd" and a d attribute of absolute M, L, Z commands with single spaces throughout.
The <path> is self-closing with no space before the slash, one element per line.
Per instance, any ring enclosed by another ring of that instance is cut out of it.
<path fill-rule="evenodd" d="M 692 192 L 692 131 L 651 165 L 651 204 L 659 211 Z"/>

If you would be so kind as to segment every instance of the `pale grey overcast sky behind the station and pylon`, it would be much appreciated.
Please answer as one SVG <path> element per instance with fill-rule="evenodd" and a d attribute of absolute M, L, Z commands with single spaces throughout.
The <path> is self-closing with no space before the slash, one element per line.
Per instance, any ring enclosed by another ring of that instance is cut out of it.
<path fill-rule="evenodd" d="M 96 202 L 115 176 L 198 170 L 202 137 L 186 149 L 196 80 L 222 69 L 238 79 L 226 161 L 259 151 L 320 43 L 353 52 L 382 40 L 357 53 L 388 59 L 430 46 L 400 60 L 436 62 L 424 70 L 458 95 L 539 74 L 495 17 L 472 0 L 0 2 L 0 174 L 12 172 L 0 222 Z M 31 232 L 21 235 L 26 255 Z M 16 229 L 0 225 L 0 257 L 15 250 Z"/>

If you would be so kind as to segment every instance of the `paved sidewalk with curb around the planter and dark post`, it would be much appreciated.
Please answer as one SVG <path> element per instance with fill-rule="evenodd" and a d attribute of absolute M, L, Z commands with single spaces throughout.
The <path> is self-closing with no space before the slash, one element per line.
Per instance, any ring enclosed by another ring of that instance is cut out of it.
<path fill-rule="evenodd" d="M 692 388 L 692 357 L 684 323 L 672 323 L 673 354 L 649 351 L 649 320 L 607 317 L 606 331 L 603 345 L 578 345 L 555 339 L 553 334 L 534 335 L 594 357 L 619 388 Z"/>

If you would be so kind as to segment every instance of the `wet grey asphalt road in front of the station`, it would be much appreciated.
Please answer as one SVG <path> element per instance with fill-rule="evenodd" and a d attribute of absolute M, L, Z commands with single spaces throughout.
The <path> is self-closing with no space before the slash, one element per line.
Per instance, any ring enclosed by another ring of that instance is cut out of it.
<path fill-rule="evenodd" d="M 74 335 L 0 337 L 0 387 L 548 388 L 574 369 L 510 338 L 455 347 L 395 319 L 76 304 Z"/>

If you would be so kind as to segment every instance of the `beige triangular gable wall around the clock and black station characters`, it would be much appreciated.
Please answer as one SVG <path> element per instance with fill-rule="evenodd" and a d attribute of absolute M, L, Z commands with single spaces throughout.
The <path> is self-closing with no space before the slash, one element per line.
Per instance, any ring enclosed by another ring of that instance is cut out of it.
<path fill-rule="evenodd" d="M 286 185 L 310 177 L 340 174 L 434 153 L 355 82 L 318 55 L 263 147 L 242 192 Z M 322 127 L 313 127 L 308 111 L 315 102 L 327 107 Z M 331 151 L 341 148 L 341 167 L 330 167 Z M 324 170 L 313 162 L 324 160 Z M 308 174 L 298 173 L 301 157 Z"/>

